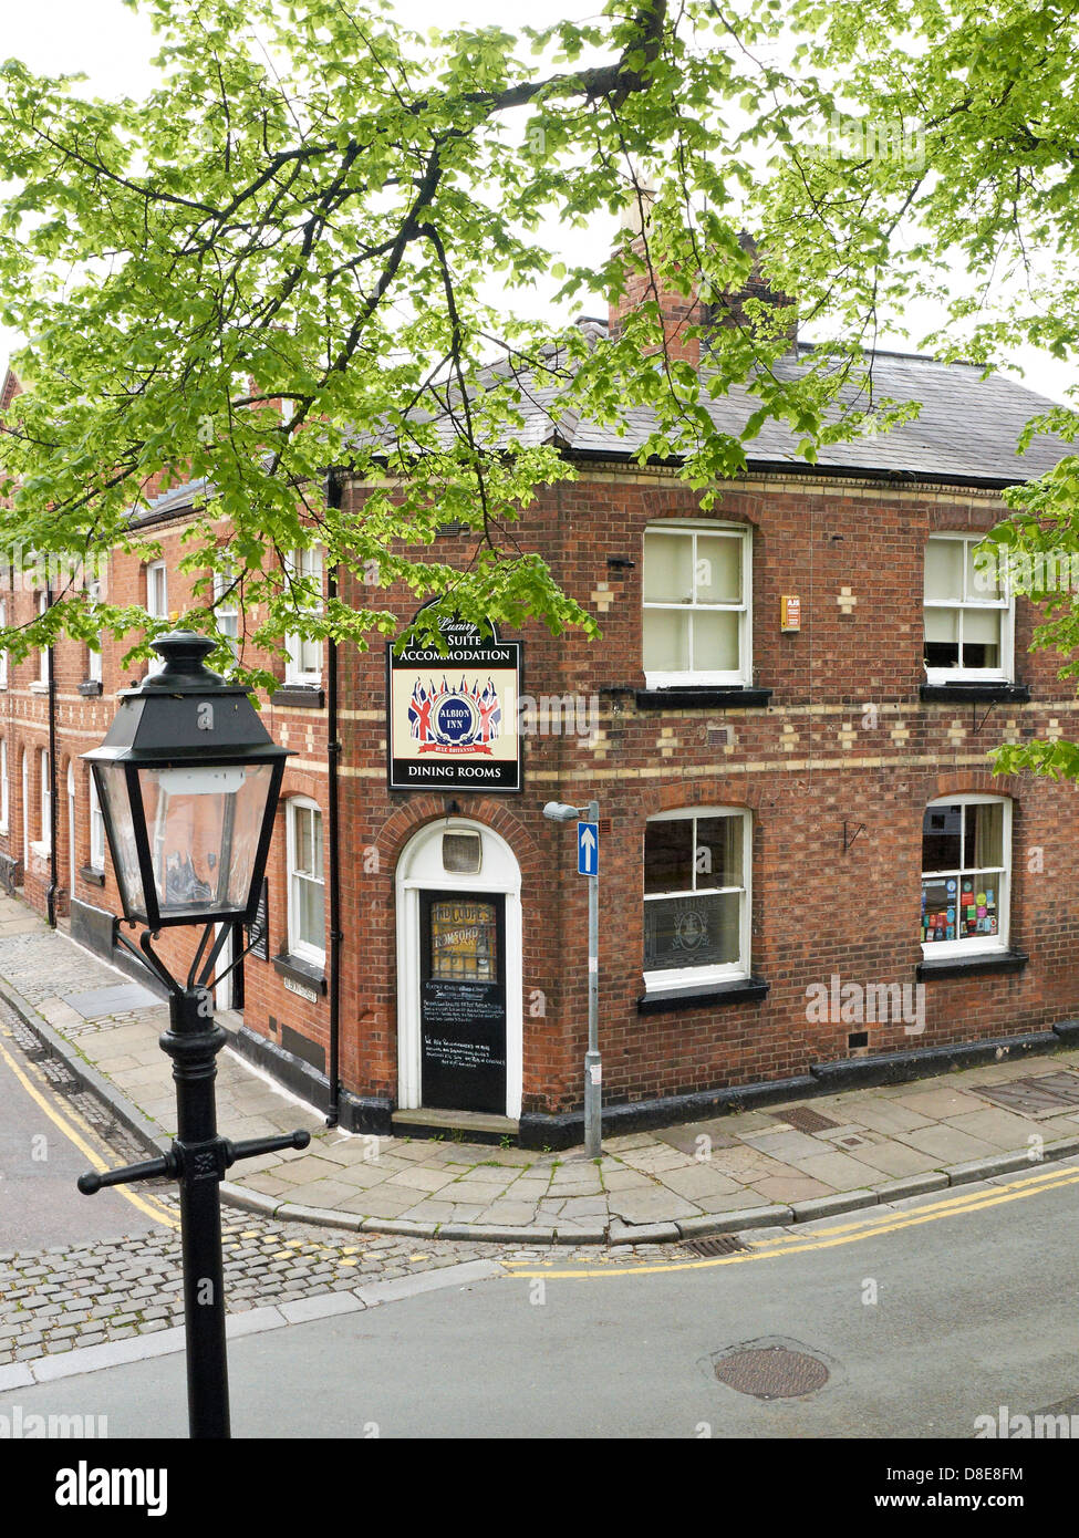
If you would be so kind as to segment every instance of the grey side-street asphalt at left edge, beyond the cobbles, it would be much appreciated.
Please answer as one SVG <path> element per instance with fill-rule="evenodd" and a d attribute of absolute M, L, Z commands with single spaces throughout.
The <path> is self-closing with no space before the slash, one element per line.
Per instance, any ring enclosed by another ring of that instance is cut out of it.
<path fill-rule="evenodd" d="M 0 1017 L 0 1250 L 145 1233 L 154 1218 L 115 1189 L 83 1197 L 75 1180 L 97 1158 L 123 1163 L 57 1095 Z"/>

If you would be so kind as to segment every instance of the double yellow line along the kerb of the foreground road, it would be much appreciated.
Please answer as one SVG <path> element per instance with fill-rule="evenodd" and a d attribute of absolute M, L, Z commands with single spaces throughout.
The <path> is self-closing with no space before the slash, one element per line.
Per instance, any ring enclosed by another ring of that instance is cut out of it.
<path fill-rule="evenodd" d="M 734 1255 L 717 1255 L 713 1260 L 656 1261 L 640 1266 L 619 1266 L 611 1261 L 603 1267 L 574 1266 L 562 1270 L 556 1270 L 553 1266 L 536 1266 L 534 1261 L 503 1261 L 503 1264 L 514 1278 L 533 1280 L 542 1277 L 545 1281 L 573 1281 L 593 1277 L 650 1277 L 673 1270 L 710 1270 L 714 1266 L 743 1266 L 747 1261 L 754 1260 L 807 1255 L 811 1250 L 856 1244 L 860 1240 L 877 1238 L 880 1233 L 897 1233 L 900 1229 L 913 1229 L 922 1223 L 937 1223 L 940 1218 L 962 1218 L 971 1212 L 985 1212 L 1008 1201 L 1025 1201 L 1028 1197 L 1041 1197 L 1047 1190 L 1057 1190 L 1061 1186 L 1074 1184 L 1079 1184 L 1079 1169 L 1070 1164 L 1056 1164 L 1051 1169 L 1041 1169 L 1036 1175 L 1021 1175 L 1008 1186 L 982 1186 L 976 1190 L 965 1190 L 960 1195 L 942 1197 L 940 1201 L 907 1212 L 877 1209 L 871 1217 L 860 1215 L 850 1223 L 814 1229 L 813 1233 L 807 1233 L 805 1237 L 800 1233 L 780 1233 L 774 1238 L 762 1240 L 751 1250 L 742 1250 Z"/>

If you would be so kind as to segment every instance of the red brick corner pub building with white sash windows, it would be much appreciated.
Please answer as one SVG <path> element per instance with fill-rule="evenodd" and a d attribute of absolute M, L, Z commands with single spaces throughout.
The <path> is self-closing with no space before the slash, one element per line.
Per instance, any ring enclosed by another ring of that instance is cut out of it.
<path fill-rule="evenodd" d="M 671 309 L 671 328 L 691 317 Z M 463 634 L 451 664 L 394 671 L 393 707 L 380 646 L 289 647 L 266 703 L 296 751 L 266 941 L 219 1000 L 242 1006 L 225 1015 L 240 1050 L 319 1104 L 336 1052 L 348 1127 L 579 1141 L 586 883 L 542 806 L 593 797 L 616 1123 L 808 1094 L 880 1055 L 920 1072 L 944 1047 L 1079 1012 L 1074 789 L 987 767 L 1004 741 L 1074 738 L 1074 692 L 1051 654 L 1028 652 L 1033 606 L 971 554 L 1005 512 L 1002 488 L 1065 448 L 1036 438 L 1014 455 L 1045 401 L 1004 378 L 894 354 L 874 372 L 880 394 L 922 403 L 917 420 L 814 466 L 765 426 L 708 514 L 673 466 L 634 463 L 636 415 L 623 437 L 537 418 L 577 480 L 537 494 L 519 540 L 596 612 L 596 643 L 526 626 L 483 651 Z M 751 401 L 733 391 L 711 409 L 737 431 Z M 362 501 L 346 472 L 342 486 Z M 183 614 L 191 495 L 154 503 L 162 560 L 115 554 L 109 594 Z M 469 540 L 446 529 L 436 558 L 465 560 Z M 348 598 L 354 578 L 340 580 Z M 42 601 L 17 588 L 6 623 Z M 413 617 L 406 592 L 388 601 Z M 45 658 L 0 674 L 6 880 L 114 957 L 115 881 L 79 754 L 131 681 L 120 651 L 106 641 L 99 663 L 60 643 L 52 694 Z M 505 772 L 465 772 L 496 761 Z"/>

